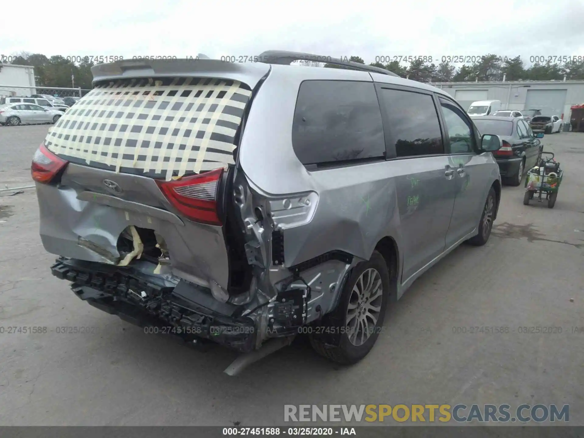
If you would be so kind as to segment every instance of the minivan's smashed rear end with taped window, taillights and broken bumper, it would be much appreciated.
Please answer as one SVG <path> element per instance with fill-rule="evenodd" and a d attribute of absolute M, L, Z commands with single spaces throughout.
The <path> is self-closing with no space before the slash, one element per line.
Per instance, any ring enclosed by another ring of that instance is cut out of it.
<path fill-rule="evenodd" d="M 123 61 L 92 71 L 95 88 L 33 158 L 41 240 L 61 256 L 53 273 L 140 325 L 148 321 L 124 300 L 153 321 L 166 312 L 167 322 L 184 304 L 178 333 L 196 326 L 188 334 L 252 349 L 249 318 L 227 304 L 249 291 L 251 275 L 226 187 L 246 105 L 269 65 Z"/>

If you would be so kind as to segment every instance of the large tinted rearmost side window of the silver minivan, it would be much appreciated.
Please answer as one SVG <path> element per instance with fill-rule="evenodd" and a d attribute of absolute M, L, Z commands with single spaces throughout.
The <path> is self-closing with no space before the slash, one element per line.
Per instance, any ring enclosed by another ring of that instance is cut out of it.
<path fill-rule="evenodd" d="M 304 81 L 292 145 L 305 164 L 384 158 L 381 111 L 371 82 Z"/>

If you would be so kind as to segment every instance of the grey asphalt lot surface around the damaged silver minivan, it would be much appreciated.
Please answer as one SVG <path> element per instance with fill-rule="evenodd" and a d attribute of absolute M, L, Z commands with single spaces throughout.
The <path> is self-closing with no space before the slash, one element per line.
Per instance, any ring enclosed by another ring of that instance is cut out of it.
<path fill-rule="evenodd" d="M 32 184 L 47 128 L 0 127 L 0 188 Z M 565 171 L 555 208 L 503 187 L 488 244 L 416 281 L 352 367 L 298 339 L 229 377 L 235 353 L 187 349 L 75 297 L 51 276 L 34 190 L 0 193 L 0 326 L 47 327 L 0 334 L 0 425 L 285 425 L 284 404 L 385 403 L 569 404 L 584 425 L 584 134 L 542 141 Z M 509 332 L 455 333 L 474 326 Z"/>

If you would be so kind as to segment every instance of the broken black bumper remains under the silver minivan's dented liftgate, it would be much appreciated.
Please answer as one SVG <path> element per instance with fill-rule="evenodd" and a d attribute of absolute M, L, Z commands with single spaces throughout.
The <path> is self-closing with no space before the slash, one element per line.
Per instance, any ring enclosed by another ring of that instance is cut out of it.
<path fill-rule="evenodd" d="M 242 353 L 254 349 L 256 329 L 251 318 L 239 317 L 237 306 L 211 309 L 189 300 L 206 294 L 184 280 L 168 286 L 128 267 L 62 257 L 55 260 L 51 273 L 71 281 L 72 291 L 81 300 L 131 324 L 164 326 L 160 332 L 190 343 L 206 339 Z"/>

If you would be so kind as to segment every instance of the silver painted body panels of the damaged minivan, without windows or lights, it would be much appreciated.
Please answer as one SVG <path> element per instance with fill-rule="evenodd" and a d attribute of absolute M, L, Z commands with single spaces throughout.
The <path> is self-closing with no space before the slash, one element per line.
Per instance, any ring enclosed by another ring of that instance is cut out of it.
<path fill-rule="evenodd" d="M 235 79 L 255 91 L 238 147 L 232 199 L 245 238 L 251 287 L 228 303 L 244 307 L 256 322 L 262 345 L 273 300 L 289 283 L 290 266 L 331 251 L 352 262 L 328 260 L 303 271 L 312 289 L 307 322 L 334 310 L 350 269 L 368 260 L 381 239 L 397 248 L 401 297 L 423 272 L 477 234 L 489 189 L 499 183 L 490 152 L 388 159 L 307 171 L 292 147 L 292 120 L 303 81 L 329 79 L 407 86 L 450 99 L 440 89 L 383 74 L 348 69 L 233 64 L 216 60 L 123 61 L 92 69 L 96 80 L 152 76 Z M 477 137 L 478 138 L 478 137 Z M 444 176 L 447 165 L 465 172 Z M 123 192 L 109 192 L 103 180 Z M 58 186 L 37 183 L 40 234 L 48 252 L 116 264 L 116 242 L 129 225 L 164 237 L 172 262 L 169 281 L 190 281 L 209 293 L 228 290 L 230 261 L 222 227 L 180 217 L 153 179 L 69 164 Z M 257 212 L 261 211 L 262 220 Z M 284 265 L 272 261 L 272 232 L 284 238 Z M 302 281 L 290 287 L 305 288 Z M 215 296 L 215 294 L 213 294 Z M 318 310 L 317 310 L 318 308 Z"/>

